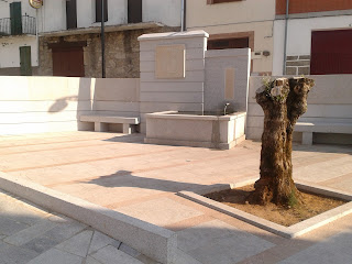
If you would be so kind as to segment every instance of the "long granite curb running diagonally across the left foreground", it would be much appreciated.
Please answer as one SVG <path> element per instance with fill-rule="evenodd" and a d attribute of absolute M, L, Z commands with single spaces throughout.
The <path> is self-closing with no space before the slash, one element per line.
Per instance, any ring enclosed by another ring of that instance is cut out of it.
<path fill-rule="evenodd" d="M 1 189 L 88 224 L 165 264 L 175 262 L 175 232 L 0 172 Z"/>

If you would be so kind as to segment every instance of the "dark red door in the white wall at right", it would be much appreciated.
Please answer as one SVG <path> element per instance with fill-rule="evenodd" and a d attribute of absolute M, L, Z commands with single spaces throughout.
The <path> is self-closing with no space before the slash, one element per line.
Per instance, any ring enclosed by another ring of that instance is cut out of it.
<path fill-rule="evenodd" d="M 352 74 L 352 30 L 311 33 L 310 74 Z"/>

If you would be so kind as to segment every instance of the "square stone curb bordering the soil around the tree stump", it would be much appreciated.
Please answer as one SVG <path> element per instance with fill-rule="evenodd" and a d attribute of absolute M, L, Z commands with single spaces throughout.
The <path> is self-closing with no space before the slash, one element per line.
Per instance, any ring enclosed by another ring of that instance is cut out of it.
<path fill-rule="evenodd" d="M 249 184 L 253 184 L 255 180 L 256 179 L 250 179 L 250 180 L 245 180 L 243 183 L 239 183 L 234 185 L 210 186 L 209 188 L 205 188 L 197 191 L 197 194 L 191 191 L 179 191 L 178 195 L 191 201 L 198 202 L 202 206 L 223 212 L 228 216 L 234 217 L 244 222 L 248 222 L 257 228 L 264 229 L 266 231 L 270 231 L 272 233 L 278 234 L 287 239 L 297 238 L 299 235 L 308 233 L 317 228 L 320 228 L 329 222 L 332 222 L 352 212 L 352 195 L 351 194 L 331 189 L 328 187 L 322 187 L 322 186 L 310 184 L 310 183 L 304 184 L 304 183 L 296 182 L 296 185 L 301 190 L 306 190 L 306 191 L 310 191 L 319 195 L 326 195 L 334 198 L 345 199 L 345 200 L 349 200 L 350 202 L 342 205 L 340 207 L 337 207 L 334 209 L 331 209 L 329 211 L 326 211 L 323 213 L 320 213 L 305 221 L 301 221 L 299 223 L 293 224 L 290 227 L 284 227 L 201 196 L 201 195 L 213 193 L 213 191 L 242 187 Z"/>

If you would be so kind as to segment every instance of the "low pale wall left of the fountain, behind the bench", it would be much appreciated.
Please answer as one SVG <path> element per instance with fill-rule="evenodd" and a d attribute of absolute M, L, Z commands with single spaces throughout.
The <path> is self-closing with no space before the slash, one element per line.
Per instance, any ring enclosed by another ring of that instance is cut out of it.
<path fill-rule="evenodd" d="M 139 116 L 139 79 L 0 77 L 0 135 L 94 130 L 94 111 Z"/>

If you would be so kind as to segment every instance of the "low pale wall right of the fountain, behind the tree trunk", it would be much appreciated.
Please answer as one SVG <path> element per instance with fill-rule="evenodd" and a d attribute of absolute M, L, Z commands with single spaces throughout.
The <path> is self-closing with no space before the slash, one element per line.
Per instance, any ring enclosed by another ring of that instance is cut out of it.
<path fill-rule="evenodd" d="M 311 75 L 316 81 L 308 96 L 308 110 L 300 117 L 301 122 L 352 123 L 352 75 Z M 278 78 L 278 77 L 274 77 Z M 255 90 L 262 84 L 262 77 L 250 78 L 246 139 L 260 140 L 263 133 L 263 110 L 255 101 Z M 297 134 L 299 140 L 299 134 Z M 339 139 L 337 139 L 339 138 Z M 351 136 L 339 134 L 316 134 L 314 142 L 349 143 Z"/>

